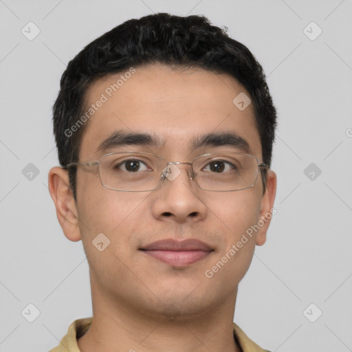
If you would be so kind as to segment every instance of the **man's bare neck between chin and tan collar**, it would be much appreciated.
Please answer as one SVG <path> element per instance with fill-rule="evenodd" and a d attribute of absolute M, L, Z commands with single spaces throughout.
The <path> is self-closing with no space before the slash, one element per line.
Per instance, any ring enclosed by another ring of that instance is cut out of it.
<path fill-rule="evenodd" d="M 186 316 L 175 311 L 147 314 L 92 289 L 93 322 L 78 339 L 81 352 L 240 352 L 232 331 L 236 292 L 212 308 Z"/>

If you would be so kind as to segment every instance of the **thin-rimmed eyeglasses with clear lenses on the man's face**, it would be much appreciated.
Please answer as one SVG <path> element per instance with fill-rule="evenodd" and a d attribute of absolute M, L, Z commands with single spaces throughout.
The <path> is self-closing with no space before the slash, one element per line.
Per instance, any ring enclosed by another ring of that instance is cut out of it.
<path fill-rule="evenodd" d="M 254 186 L 259 169 L 268 166 L 259 163 L 254 155 L 244 153 L 211 153 L 195 157 L 192 162 L 167 162 L 153 153 L 120 151 L 102 155 L 97 161 L 72 162 L 72 166 L 99 166 L 102 186 L 110 190 L 146 192 L 157 190 L 164 180 L 176 179 L 187 164 L 188 176 L 202 190 L 228 192 Z"/>

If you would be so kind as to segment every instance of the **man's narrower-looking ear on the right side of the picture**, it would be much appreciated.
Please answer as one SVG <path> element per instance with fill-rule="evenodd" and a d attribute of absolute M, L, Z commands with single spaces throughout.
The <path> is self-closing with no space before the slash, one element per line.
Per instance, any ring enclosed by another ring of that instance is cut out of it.
<path fill-rule="evenodd" d="M 276 214 L 274 201 L 276 195 L 276 173 L 273 170 L 267 171 L 267 185 L 261 201 L 261 212 L 259 214 L 260 229 L 256 235 L 256 245 L 263 245 L 267 239 L 267 229 L 269 228 L 272 216 Z"/>

